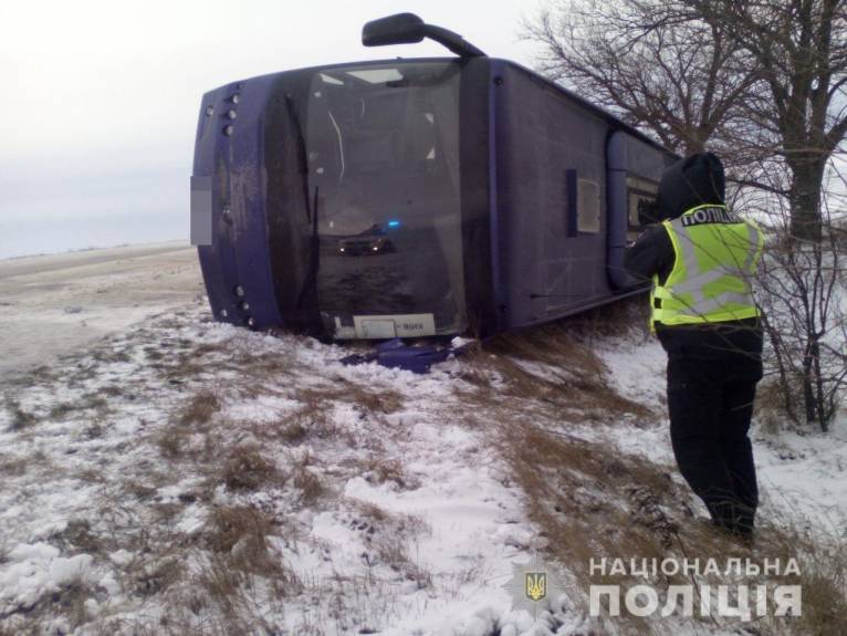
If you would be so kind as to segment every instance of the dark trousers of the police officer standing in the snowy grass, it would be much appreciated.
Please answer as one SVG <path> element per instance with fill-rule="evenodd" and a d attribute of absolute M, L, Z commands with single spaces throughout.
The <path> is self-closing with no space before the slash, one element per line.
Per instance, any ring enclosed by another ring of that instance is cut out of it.
<path fill-rule="evenodd" d="M 753 530 L 759 488 L 747 437 L 759 356 L 668 359 L 670 437 L 679 470 L 714 522 L 736 534 Z"/>

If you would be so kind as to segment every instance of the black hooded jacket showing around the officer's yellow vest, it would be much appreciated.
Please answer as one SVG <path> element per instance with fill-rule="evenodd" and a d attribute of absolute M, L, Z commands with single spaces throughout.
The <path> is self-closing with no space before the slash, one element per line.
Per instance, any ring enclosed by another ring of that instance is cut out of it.
<path fill-rule="evenodd" d="M 724 202 L 725 180 L 721 160 L 711 153 L 699 153 L 671 165 L 659 183 L 656 225 L 645 230 L 627 249 L 624 267 L 636 279 L 659 283 L 668 280 L 676 254 L 661 221 L 676 219 L 686 210 L 707 204 Z M 662 325 L 656 334 L 670 356 L 721 359 L 736 355 L 759 356 L 762 329 L 757 319 L 711 325 Z"/>

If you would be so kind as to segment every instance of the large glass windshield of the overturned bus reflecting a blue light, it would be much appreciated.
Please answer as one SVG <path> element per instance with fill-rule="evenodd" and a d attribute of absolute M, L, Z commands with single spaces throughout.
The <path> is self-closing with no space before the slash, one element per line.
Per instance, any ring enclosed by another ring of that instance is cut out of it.
<path fill-rule="evenodd" d="M 456 62 L 321 69 L 305 116 L 317 302 L 336 338 L 466 329 Z"/>

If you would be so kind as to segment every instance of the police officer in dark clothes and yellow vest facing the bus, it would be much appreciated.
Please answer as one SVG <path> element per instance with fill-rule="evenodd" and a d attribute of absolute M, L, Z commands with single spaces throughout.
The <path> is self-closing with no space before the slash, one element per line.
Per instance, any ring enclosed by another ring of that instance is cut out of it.
<path fill-rule="evenodd" d="M 762 378 L 750 279 L 763 236 L 724 205 L 723 166 L 711 153 L 665 171 L 656 211 L 625 267 L 653 282 L 650 324 L 668 354 L 673 455 L 712 521 L 750 536 L 759 491 L 747 430 Z"/>

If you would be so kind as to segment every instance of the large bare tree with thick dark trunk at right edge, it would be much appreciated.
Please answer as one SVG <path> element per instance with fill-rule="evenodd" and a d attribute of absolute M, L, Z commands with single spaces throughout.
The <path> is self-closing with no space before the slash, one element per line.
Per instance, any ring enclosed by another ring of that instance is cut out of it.
<path fill-rule="evenodd" d="M 847 135 L 846 0 L 684 0 L 759 69 L 745 118 L 791 171 L 791 236 L 820 240 L 826 167 Z"/>

